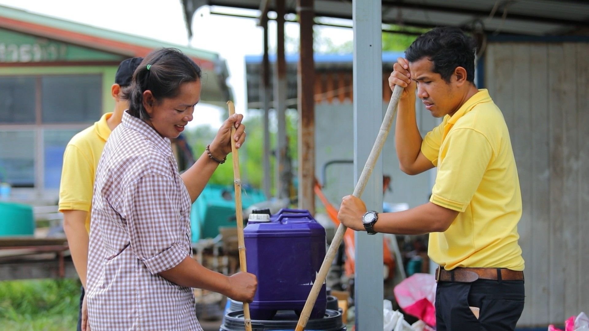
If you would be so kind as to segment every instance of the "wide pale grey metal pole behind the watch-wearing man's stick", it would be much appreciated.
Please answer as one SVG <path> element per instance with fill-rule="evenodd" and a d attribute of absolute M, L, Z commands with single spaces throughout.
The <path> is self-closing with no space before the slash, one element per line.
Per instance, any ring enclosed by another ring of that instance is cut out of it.
<path fill-rule="evenodd" d="M 382 2 L 353 0 L 354 178 L 358 181 L 382 123 Z M 366 184 L 362 200 L 382 211 L 382 158 Z M 356 330 L 382 330 L 382 234 L 356 233 Z"/>

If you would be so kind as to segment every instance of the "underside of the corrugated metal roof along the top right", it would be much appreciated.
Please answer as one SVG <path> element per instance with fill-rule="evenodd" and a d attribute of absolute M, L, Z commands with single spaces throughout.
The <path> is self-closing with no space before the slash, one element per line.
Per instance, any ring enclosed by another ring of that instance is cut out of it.
<path fill-rule="evenodd" d="M 259 0 L 183 0 L 201 5 L 258 9 Z M 273 1 L 270 1 L 273 10 Z M 296 1 L 286 1 L 296 12 Z M 352 18 L 350 0 L 315 0 L 316 16 Z M 519 35 L 589 35 L 589 2 L 575 0 L 383 0 L 382 21 L 413 27 L 456 26 Z"/>

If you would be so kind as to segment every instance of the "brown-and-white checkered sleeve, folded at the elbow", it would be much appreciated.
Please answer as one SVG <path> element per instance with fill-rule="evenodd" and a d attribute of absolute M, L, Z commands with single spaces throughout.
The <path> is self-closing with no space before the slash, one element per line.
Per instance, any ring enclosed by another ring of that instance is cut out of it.
<path fill-rule="evenodd" d="M 152 274 L 171 269 L 190 255 L 179 198 L 174 178 L 158 174 L 143 176 L 127 189 L 130 246 Z"/>

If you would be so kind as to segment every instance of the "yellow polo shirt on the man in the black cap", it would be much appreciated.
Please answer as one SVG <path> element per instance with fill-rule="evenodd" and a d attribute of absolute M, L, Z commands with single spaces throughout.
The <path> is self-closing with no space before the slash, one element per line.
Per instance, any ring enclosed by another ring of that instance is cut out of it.
<path fill-rule="evenodd" d="M 59 211 L 88 211 L 86 230 L 90 233 L 90 211 L 94 193 L 94 177 L 98 161 L 111 133 L 107 120 L 112 112 L 71 138 L 65 147 L 64 165 L 59 184 Z"/>

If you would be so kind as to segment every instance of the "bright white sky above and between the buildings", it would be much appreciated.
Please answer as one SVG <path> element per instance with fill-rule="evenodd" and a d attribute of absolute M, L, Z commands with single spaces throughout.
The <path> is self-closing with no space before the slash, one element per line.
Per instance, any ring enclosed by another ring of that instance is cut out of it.
<path fill-rule="evenodd" d="M 262 54 L 262 28 L 257 27 L 256 19 L 210 12 L 212 9 L 257 16 L 258 11 L 204 6 L 193 16 L 193 38 L 189 41 L 180 0 L 0 0 L 0 5 L 217 52 L 227 61 L 230 74 L 228 84 L 233 88 L 236 112 L 247 116 L 244 56 Z M 298 38 L 298 24 L 287 22 L 284 30 L 286 51 L 296 51 L 292 42 L 288 45 L 288 41 Z M 316 31 L 323 38 L 330 38 L 335 45 L 343 44 L 353 36 L 349 28 L 316 27 Z M 269 24 L 269 44 L 270 49 L 275 49 L 276 24 L 273 21 Z M 201 124 L 213 127 L 221 125 L 220 108 L 198 104 L 195 112 L 198 115 L 195 115 L 188 128 Z"/>

